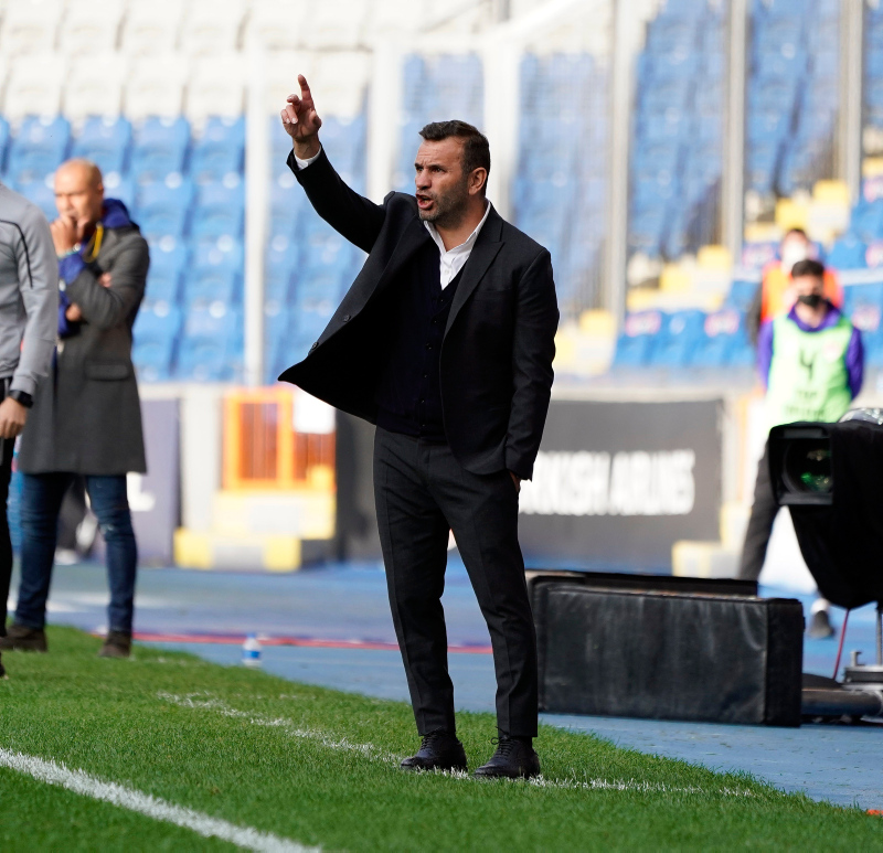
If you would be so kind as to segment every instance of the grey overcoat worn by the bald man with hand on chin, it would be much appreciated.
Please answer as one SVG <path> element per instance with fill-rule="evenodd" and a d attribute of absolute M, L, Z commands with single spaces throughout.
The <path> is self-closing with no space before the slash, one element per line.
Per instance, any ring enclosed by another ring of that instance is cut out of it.
<path fill-rule="evenodd" d="M 131 327 L 149 264 L 137 226 L 108 228 L 97 258 L 66 286 L 84 320 L 38 383 L 19 455 L 24 473 L 147 470 Z M 103 273 L 110 273 L 109 288 L 98 284 Z"/>

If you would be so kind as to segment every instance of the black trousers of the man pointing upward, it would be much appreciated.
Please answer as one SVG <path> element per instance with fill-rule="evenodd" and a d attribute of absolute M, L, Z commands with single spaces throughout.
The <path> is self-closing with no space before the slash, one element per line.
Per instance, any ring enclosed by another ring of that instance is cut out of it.
<path fill-rule="evenodd" d="M 447 445 L 377 428 L 374 497 L 393 623 L 417 731 L 455 732 L 442 594 L 448 531 L 490 631 L 501 734 L 535 737 L 536 635 L 508 471 L 467 471 Z"/>

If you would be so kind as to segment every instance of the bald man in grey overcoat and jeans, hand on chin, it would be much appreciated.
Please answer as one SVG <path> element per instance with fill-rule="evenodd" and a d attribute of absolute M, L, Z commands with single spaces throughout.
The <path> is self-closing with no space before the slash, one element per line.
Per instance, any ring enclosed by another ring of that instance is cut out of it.
<path fill-rule="evenodd" d="M 38 385 L 19 456 L 22 578 L 14 622 L 0 648 L 46 650 L 58 510 L 71 479 L 83 475 L 107 544 L 109 630 L 99 653 L 128 657 L 138 553 L 126 475 L 147 470 L 131 329 L 149 254 L 126 205 L 104 198 L 95 164 L 63 163 L 55 173 L 55 202 L 60 342 L 50 377 Z"/>

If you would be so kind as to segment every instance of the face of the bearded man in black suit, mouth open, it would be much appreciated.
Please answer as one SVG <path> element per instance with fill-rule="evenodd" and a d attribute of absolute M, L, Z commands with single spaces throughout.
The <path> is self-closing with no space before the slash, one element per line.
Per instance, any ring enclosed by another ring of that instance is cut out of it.
<path fill-rule="evenodd" d="M 424 140 L 414 161 L 419 217 L 442 227 L 457 225 L 469 203 L 469 175 L 462 171 L 462 142 Z"/>

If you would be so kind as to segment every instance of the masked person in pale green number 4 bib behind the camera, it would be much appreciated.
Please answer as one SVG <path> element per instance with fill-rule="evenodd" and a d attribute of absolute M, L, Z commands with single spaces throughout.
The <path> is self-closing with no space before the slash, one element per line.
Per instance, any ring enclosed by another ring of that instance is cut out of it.
<path fill-rule="evenodd" d="M 797 420 L 839 420 L 861 390 L 864 370 L 861 334 L 826 297 L 825 273 L 818 260 L 796 263 L 791 270 L 792 308 L 760 327 L 757 363 L 766 386 L 769 428 Z M 764 450 L 740 577 L 751 580 L 759 577 L 778 509 Z M 820 598 L 812 606 L 809 635 L 832 633 L 828 603 Z"/>

